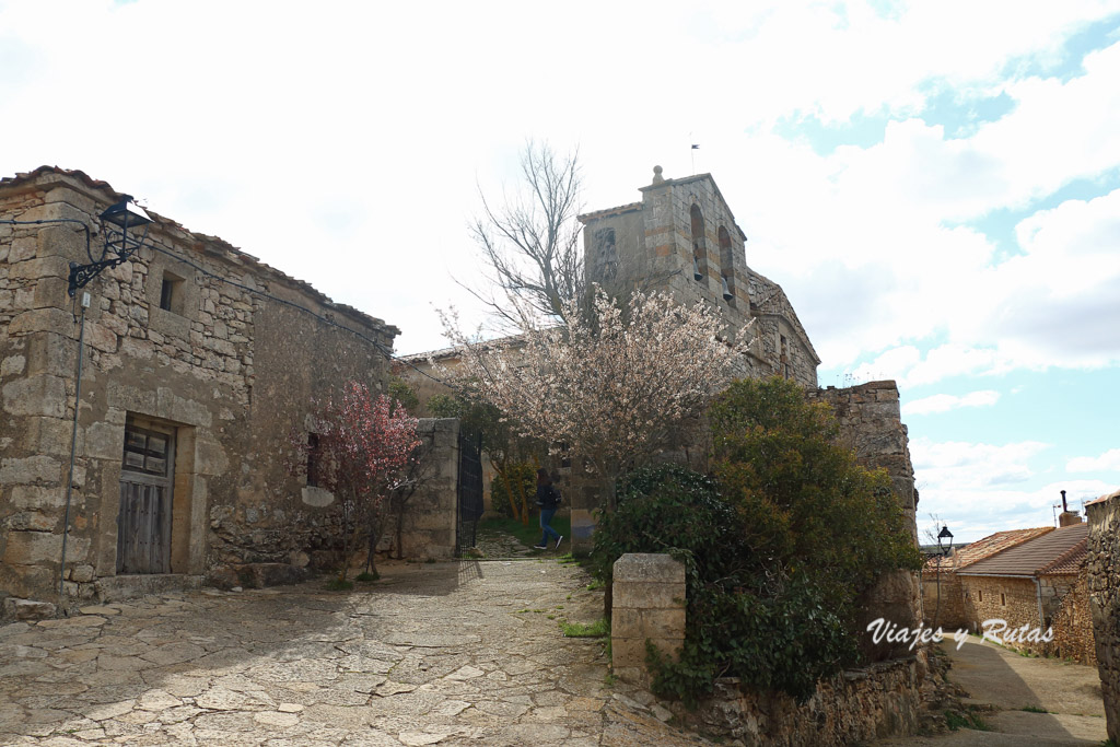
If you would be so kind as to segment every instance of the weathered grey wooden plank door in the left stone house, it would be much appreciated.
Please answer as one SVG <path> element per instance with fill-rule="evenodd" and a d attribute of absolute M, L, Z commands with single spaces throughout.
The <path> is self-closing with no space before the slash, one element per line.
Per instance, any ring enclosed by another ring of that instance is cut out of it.
<path fill-rule="evenodd" d="M 131 422 L 124 427 L 116 572 L 171 571 L 171 486 L 175 435 Z"/>

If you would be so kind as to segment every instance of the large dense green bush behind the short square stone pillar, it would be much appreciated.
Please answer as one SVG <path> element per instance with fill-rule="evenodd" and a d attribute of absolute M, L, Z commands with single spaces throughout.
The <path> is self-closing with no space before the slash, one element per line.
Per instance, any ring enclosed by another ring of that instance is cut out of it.
<path fill-rule="evenodd" d="M 679 661 L 648 652 L 654 690 L 687 704 L 719 676 L 809 698 L 859 660 L 856 600 L 884 572 L 917 568 L 885 473 L 836 445 L 824 405 L 783 380 L 736 382 L 711 408 L 716 479 L 683 467 L 637 470 L 600 515 L 592 572 L 626 552 L 685 566 Z"/>

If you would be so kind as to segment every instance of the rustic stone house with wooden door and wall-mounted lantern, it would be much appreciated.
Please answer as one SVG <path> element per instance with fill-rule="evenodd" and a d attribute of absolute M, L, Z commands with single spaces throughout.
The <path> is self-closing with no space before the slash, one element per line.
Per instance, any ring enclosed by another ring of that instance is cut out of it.
<path fill-rule="evenodd" d="M 101 216 L 124 197 L 58 168 L 0 181 L 0 597 L 314 562 L 333 496 L 289 475 L 289 433 L 345 382 L 386 384 L 395 327 L 160 215 L 72 298 L 69 265 L 99 259 Z M 437 545 L 454 538 L 445 513 Z"/>

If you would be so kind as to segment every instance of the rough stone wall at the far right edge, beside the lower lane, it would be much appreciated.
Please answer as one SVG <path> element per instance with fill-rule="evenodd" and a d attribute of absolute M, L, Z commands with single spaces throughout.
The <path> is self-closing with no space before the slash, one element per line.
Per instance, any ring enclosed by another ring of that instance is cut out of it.
<path fill-rule="evenodd" d="M 1120 744 L 1120 492 L 1088 504 L 1089 586 L 1109 738 Z"/>

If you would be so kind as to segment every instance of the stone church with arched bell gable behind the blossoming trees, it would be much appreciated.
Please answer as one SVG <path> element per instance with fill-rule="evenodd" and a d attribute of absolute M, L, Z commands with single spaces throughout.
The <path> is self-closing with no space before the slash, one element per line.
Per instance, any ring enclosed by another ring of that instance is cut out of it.
<path fill-rule="evenodd" d="M 746 234 L 710 174 L 669 179 L 661 167 L 654 167 L 653 180 L 638 192 L 638 202 L 579 216 L 588 281 L 617 293 L 661 290 L 683 304 L 712 304 L 727 321 L 728 334 L 754 319 L 754 337 L 739 375 L 792 379 L 810 398 L 828 402 L 857 456 L 890 474 L 916 538 L 917 491 L 895 383 L 818 389 L 820 358 L 809 335 L 782 287 L 750 268 Z M 456 355 L 449 348 L 407 360 L 422 370 L 429 362 L 454 367 Z M 421 375 L 407 370 L 401 375 L 417 387 L 422 401 L 440 391 Z M 567 475 L 567 483 L 572 548 L 586 550 L 595 529 L 598 486 L 577 474 Z M 892 594 L 905 596 L 909 610 L 920 609 L 916 578 Z"/>

